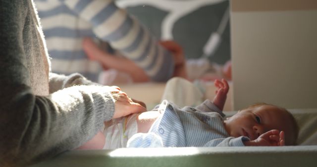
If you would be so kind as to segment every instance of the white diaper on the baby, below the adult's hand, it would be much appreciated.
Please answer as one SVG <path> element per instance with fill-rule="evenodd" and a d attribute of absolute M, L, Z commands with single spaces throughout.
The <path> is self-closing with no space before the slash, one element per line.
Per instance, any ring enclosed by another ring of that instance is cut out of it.
<path fill-rule="evenodd" d="M 104 131 L 106 143 L 103 149 L 126 147 L 128 139 L 138 132 L 138 115 L 132 114 L 128 117 L 112 119 L 106 122 Z"/>

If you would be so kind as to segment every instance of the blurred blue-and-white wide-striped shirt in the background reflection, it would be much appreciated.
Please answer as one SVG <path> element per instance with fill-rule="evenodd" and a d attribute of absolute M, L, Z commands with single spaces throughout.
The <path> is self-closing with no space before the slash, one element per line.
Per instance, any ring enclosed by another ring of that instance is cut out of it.
<path fill-rule="evenodd" d="M 174 61 L 154 36 L 113 0 L 35 0 L 41 18 L 52 71 L 79 72 L 97 81 L 101 65 L 87 60 L 84 37 L 109 44 L 144 69 L 152 81 L 172 77 Z"/>

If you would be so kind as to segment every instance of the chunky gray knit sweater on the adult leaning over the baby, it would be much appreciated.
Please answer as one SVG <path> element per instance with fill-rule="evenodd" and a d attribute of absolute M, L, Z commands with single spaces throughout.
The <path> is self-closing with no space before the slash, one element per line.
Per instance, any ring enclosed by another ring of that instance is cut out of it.
<path fill-rule="evenodd" d="M 33 0 L 0 0 L 0 167 L 74 149 L 114 113 L 108 86 L 49 74 L 38 20 Z"/>

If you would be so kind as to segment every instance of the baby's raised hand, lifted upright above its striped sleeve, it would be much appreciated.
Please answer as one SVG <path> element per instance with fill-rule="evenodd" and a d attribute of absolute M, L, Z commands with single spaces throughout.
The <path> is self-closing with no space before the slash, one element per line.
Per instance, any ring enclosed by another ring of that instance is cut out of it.
<path fill-rule="evenodd" d="M 222 79 L 221 82 L 219 80 L 215 80 L 214 85 L 217 87 L 217 90 L 215 92 L 216 95 L 213 98 L 213 104 L 222 111 L 227 99 L 229 84 L 226 80 Z"/>

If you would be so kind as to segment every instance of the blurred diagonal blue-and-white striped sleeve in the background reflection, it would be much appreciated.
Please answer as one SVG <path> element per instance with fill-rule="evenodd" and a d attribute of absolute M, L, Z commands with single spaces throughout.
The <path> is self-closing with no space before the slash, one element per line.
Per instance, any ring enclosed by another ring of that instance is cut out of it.
<path fill-rule="evenodd" d="M 120 9 L 114 0 L 64 0 L 84 20 L 96 36 L 145 70 L 153 81 L 165 82 L 174 72 L 174 60 L 148 29 Z"/>

